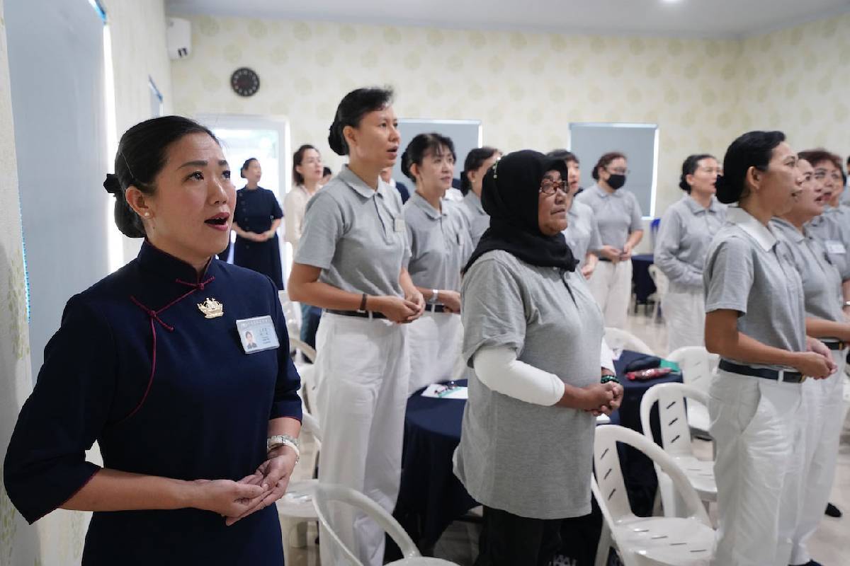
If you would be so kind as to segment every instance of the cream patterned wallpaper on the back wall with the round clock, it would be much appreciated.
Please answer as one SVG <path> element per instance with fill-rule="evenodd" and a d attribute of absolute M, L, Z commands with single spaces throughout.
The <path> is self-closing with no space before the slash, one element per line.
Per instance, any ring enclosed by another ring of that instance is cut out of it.
<path fill-rule="evenodd" d="M 172 64 L 176 111 L 286 115 L 292 146 L 313 143 L 335 171 L 327 128 L 368 84 L 393 85 L 401 117 L 482 120 L 505 150 L 563 147 L 571 121 L 657 122 L 661 206 L 688 153 L 723 151 L 739 129 L 740 42 L 212 17 L 192 31 Z M 252 98 L 229 87 L 242 65 L 260 76 Z"/>

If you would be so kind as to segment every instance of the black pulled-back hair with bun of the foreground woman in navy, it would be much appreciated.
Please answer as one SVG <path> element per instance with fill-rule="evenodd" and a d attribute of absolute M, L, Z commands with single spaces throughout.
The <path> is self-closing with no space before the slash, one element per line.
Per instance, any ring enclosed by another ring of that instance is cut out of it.
<path fill-rule="evenodd" d="M 183 116 L 144 120 L 124 132 L 115 156 L 115 174 L 106 176 L 104 188 L 115 196 L 115 224 L 128 238 L 144 238 L 145 233 L 142 219 L 127 203 L 127 188 L 156 193 L 154 179 L 166 164 L 168 148 L 193 133 L 207 134 L 221 145 L 208 128 Z"/>

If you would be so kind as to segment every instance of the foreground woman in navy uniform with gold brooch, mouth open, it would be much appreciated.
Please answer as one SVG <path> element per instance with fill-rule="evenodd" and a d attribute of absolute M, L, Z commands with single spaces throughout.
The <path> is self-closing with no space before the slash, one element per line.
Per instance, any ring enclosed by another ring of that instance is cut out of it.
<path fill-rule="evenodd" d="M 30 523 L 94 511 L 84 566 L 280 566 L 299 378 L 274 283 L 214 257 L 235 204 L 218 141 L 147 120 L 104 186 L 118 227 L 145 241 L 65 306 L 8 446 L 8 495 Z M 103 468 L 85 460 L 95 440 Z"/>

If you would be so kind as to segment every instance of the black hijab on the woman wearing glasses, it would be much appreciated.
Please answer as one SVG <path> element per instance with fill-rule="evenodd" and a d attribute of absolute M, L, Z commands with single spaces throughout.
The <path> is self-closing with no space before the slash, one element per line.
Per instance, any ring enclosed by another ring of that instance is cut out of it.
<path fill-rule="evenodd" d="M 490 215 L 490 227 L 463 272 L 481 255 L 504 249 L 532 266 L 559 267 L 575 271 L 578 261 L 563 233 L 547 236 L 537 220 L 540 185 L 547 171 L 559 171 L 564 181 L 567 164 L 531 149 L 507 154 L 484 176 L 481 205 Z"/>

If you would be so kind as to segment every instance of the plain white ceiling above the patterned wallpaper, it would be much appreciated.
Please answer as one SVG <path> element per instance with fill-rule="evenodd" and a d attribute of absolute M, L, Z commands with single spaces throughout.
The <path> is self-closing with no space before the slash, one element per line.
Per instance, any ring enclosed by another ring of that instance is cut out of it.
<path fill-rule="evenodd" d="M 207 14 L 462 29 L 735 37 L 850 12 L 850 0 L 166 0 Z"/>

